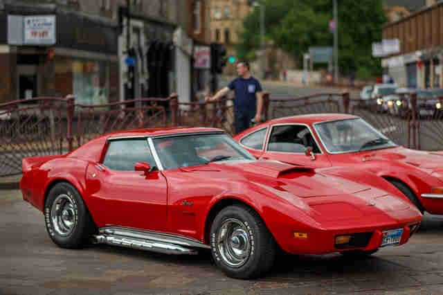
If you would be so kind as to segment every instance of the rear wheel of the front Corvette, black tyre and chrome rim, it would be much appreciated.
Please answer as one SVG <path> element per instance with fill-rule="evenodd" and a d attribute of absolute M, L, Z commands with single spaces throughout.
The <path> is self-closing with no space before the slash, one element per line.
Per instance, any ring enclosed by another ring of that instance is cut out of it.
<path fill-rule="evenodd" d="M 80 193 L 66 182 L 56 184 L 49 191 L 44 217 L 49 237 L 62 248 L 82 248 L 89 244 L 96 231 Z"/>

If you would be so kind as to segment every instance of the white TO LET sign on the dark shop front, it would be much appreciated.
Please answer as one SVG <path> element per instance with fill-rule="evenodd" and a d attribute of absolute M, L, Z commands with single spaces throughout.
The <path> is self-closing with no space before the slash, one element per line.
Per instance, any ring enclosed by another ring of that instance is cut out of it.
<path fill-rule="evenodd" d="M 55 15 L 24 17 L 24 44 L 55 44 Z"/>

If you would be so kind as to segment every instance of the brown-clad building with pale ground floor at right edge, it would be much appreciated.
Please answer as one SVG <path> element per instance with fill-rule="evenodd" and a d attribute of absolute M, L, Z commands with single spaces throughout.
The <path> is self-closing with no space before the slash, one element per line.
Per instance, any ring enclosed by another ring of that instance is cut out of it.
<path fill-rule="evenodd" d="M 400 87 L 443 88 L 443 3 L 383 26 L 383 39 L 399 39 L 400 51 L 384 57 L 383 72 Z"/>

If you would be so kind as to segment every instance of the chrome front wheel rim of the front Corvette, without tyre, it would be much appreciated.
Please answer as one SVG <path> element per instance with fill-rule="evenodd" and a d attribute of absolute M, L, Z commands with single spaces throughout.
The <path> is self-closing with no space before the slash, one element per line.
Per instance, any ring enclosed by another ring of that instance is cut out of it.
<path fill-rule="evenodd" d="M 228 218 L 217 234 L 218 252 L 230 267 L 241 267 L 251 254 L 251 238 L 240 220 Z"/>

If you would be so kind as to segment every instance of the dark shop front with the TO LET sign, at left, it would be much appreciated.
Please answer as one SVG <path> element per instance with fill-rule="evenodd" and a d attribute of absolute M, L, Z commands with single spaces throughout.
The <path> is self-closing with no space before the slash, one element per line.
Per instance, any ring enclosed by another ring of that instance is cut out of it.
<path fill-rule="evenodd" d="M 118 101 L 116 24 L 75 12 L 15 9 L 3 15 L 8 26 L 0 33 L 7 73 L 0 102 L 69 94 L 84 105 Z"/>

